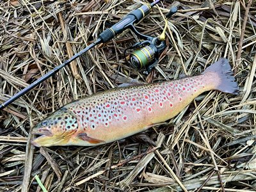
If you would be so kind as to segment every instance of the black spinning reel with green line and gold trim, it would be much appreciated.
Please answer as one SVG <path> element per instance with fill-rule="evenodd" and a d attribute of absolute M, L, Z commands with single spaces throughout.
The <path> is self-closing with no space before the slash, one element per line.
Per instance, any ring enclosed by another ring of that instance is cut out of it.
<path fill-rule="evenodd" d="M 170 12 L 166 14 L 166 18 L 171 17 L 174 13 L 177 12 L 177 7 L 172 7 Z M 136 28 L 132 25 L 130 28 L 137 36 L 143 38 L 143 42 L 138 42 L 131 47 L 125 49 L 124 56 L 125 60 L 131 67 L 138 70 L 144 69 L 144 74 L 149 74 L 151 70 L 157 65 L 159 61 L 159 56 L 161 52 L 166 48 L 165 43 L 165 31 L 167 28 L 167 20 L 165 20 L 165 26 L 163 33 L 158 37 L 143 35 L 139 33 Z M 128 50 L 132 52 L 127 54 Z"/>

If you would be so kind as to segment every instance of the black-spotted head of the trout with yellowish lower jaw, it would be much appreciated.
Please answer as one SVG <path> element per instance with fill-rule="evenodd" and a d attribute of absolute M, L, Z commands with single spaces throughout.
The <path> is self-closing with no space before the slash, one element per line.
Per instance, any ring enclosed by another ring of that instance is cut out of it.
<path fill-rule="evenodd" d="M 31 143 L 36 147 L 68 145 L 77 129 L 76 115 L 63 107 L 33 127 L 31 134 L 40 136 L 32 140 Z"/>

